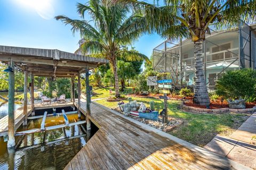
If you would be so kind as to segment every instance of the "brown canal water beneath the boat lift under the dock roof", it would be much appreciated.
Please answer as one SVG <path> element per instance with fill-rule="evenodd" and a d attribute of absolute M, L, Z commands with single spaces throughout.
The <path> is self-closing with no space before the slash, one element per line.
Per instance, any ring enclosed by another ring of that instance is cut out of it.
<path fill-rule="evenodd" d="M 67 115 L 69 122 L 77 122 L 77 114 Z M 81 120 L 84 120 L 83 116 Z M 42 118 L 30 120 L 27 127 L 17 131 L 40 128 Z M 63 124 L 63 116 L 46 118 L 45 126 Z M 0 169 L 63 169 L 85 145 L 86 135 L 81 125 L 63 129 L 31 133 L 15 137 L 17 148 L 7 149 L 7 142 L 0 137 Z M 73 139 L 70 139 L 73 138 Z"/>

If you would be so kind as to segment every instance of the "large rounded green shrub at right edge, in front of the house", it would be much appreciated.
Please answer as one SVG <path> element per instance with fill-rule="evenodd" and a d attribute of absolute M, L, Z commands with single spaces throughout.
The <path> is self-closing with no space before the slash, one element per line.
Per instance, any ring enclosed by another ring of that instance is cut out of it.
<path fill-rule="evenodd" d="M 256 71 L 243 69 L 228 71 L 216 84 L 216 94 L 228 99 L 252 99 L 256 89 Z"/>

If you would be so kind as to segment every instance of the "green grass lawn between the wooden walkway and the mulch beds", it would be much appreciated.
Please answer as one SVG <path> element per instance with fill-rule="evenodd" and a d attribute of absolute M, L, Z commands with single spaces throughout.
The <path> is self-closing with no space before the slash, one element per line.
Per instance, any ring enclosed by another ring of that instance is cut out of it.
<path fill-rule="evenodd" d="M 135 98 L 133 100 L 137 102 L 143 102 L 146 106 L 149 106 L 149 101 L 155 101 L 155 108 L 157 110 L 163 109 L 164 101 L 161 99 L 146 99 Z M 125 103 L 128 100 L 124 100 Z M 109 108 L 118 107 L 118 102 L 108 102 L 106 99 L 98 100 L 97 103 Z M 230 135 L 236 130 L 247 118 L 248 115 L 244 114 L 193 114 L 180 111 L 178 109 L 180 101 L 169 100 L 168 115 L 174 118 L 179 118 L 184 123 L 179 126 L 170 134 L 188 142 L 194 143 L 197 146 L 204 146 L 212 140 L 216 134 Z"/>

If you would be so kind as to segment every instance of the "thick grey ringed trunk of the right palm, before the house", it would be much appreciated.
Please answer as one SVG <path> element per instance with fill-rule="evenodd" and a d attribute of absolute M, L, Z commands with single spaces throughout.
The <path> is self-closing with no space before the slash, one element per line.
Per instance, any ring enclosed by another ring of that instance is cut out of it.
<path fill-rule="evenodd" d="M 203 40 L 197 40 L 194 43 L 195 54 L 195 86 L 194 86 L 194 103 L 204 106 L 210 105 L 209 94 L 204 80 L 203 71 Z"/>

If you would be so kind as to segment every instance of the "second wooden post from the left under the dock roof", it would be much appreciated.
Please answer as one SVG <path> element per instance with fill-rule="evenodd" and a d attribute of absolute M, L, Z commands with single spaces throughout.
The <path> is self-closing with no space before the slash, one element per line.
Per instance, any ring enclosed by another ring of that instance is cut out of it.
<path fill-rule="evenodd" d="M 28 124 L 27 120 L 27 112 L 28 112 L 28 71 L 24 71 L 24 99 L 23 99 L 23 115 L 24 121 L 23 121 L 23 126 L 26 126 Z"/>

